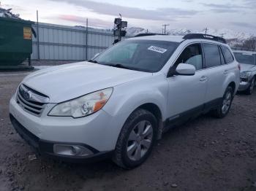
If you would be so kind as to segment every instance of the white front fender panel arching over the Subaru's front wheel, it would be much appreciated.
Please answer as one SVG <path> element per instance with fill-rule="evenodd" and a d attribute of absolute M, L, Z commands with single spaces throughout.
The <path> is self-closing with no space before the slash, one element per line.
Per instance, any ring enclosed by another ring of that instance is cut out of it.
<path fill-rule="evenodd" d="M 158 80 L 155 77 L 146 81 L 129 82 L 113 88 L 113 93 L 103 110 L 110 114 L 111 134 L 118 138 L 125 121 L 135 109 L 143 104 L 155 104 L 158 106 L 162 120 L 166 118 L 167 106 L 167 81 Z"/>

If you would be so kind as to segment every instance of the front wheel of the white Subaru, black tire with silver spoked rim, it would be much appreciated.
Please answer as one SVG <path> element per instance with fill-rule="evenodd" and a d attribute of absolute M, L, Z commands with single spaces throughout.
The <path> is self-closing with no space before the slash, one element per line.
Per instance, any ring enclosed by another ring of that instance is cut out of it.
<path fill-rule="evenodd" d="M 126 169 L 141 165 L 150 155 L 156 137 L 157 119 L 154 114 L 145 109 L 135 110 L 118 136 L 113 162 Z"/>

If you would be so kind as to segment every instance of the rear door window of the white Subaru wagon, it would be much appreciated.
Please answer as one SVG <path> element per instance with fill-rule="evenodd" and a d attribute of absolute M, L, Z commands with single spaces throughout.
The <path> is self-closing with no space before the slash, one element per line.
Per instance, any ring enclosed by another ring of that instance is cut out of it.
<path fill-rule="evenodd" d="M 203 44 L 206 58 L 206 68 L 221 65 L 219 47 L 215 44 Z"/>

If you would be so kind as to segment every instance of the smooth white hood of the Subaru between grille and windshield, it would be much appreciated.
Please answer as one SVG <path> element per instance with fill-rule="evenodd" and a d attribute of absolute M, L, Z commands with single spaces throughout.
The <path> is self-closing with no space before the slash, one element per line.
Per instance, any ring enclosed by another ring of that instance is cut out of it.
<path fill-rule="evenodd" d="M 50 103 L 59 103 L 151 75 L 85 61 L 36 71 L 23 79 L 22 83 L 48 95 Z"/>

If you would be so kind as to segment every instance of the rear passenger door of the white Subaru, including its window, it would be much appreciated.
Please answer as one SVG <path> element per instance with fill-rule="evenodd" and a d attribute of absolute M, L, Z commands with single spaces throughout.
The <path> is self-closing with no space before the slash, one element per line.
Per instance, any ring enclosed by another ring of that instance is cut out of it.
<path fill-rule="evenodd" d="M 222 50 L 218 44 L 203 43 L 205 58 L 205 76 L 208 81 L 206 89 L 206 108 L 216 106 L 224 95 L 223 83 L 229 72 Z"/>

